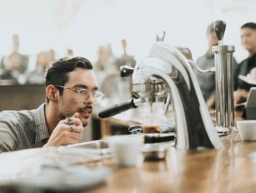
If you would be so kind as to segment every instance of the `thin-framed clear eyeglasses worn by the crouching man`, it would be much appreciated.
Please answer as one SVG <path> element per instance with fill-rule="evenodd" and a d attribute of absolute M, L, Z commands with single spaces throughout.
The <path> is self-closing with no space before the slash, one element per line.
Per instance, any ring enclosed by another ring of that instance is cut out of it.
<path fill-rule="evenodd" d="M 55 85 L 55 87 L 69 89 L 70 91 L 77 92 L 78 100 L 82 102 L 87 101 L 90 98 L 90 95 L 92 95 L 92 97 L 94 98 L 94 104 L 98 104 L 105 97 L 104 93 L 99 91 L 89 92 L 87 89 L 68 88 L 60 85 Z"/>

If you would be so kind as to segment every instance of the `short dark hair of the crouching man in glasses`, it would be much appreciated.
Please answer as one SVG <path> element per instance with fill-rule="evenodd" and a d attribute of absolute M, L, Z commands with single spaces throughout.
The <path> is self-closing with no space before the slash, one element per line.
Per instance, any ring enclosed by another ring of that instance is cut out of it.
<path fill-rule="evenodd" d="M 85 57 L 62 57 L 53 62 L 45 75 L 45 86 L 60 85 L 63 86 L 69 81 L 69 73 L 75 68 L 84 68 L 92 70 L 93 66 Z M 63 88 L 58 87 L 59 94 L 63 93 Z M 49 99 L 47 98 L 47 103 Z"/>

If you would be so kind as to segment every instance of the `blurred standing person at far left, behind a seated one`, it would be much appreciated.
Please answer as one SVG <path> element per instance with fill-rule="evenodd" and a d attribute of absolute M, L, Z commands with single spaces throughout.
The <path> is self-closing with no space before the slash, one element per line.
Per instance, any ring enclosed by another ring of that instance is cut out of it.
<path fill-rule="evenodd" d="M 20 39 L 19 36 L 14 34 L 12 37 L 12 47 L 13 50 L 11 52 L 10 55 L 8 56 L 4 56 L 1 59 L 1 63 L 0 66 L 3 69 L 3 71 L 5 72 L 5 70 L 8 68 L 8 64 L 10 63 L 10 56 L 11 55 L 18 55 L 20 57 L 19 59 L 19 64 L 17 66 L 15 66 L 15 70 L 19 72 L 19 74 L 24 74 L 25 71 L 27 70 L 28 67 L 28 63 L 29 63 L 29 57 L 22 55 L 19 51 L 20 48 Z"/>

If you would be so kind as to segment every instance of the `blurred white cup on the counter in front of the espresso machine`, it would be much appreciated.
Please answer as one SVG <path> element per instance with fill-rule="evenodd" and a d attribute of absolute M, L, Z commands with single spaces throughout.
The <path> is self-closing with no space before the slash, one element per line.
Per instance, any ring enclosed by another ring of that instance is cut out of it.
<path fill-rule="evenodd" d="M 119 136 L 110 139 L 110 148 L 114 154 L 114 161 L 123 167 L 136 166 L 142 154 L 142 137 Z"/>

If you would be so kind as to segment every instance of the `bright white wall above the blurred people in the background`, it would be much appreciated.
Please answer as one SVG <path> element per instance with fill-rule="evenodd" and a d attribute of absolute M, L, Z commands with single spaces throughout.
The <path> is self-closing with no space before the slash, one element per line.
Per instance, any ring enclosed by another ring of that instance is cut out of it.
<path fill-rule="evenodd" d="M 0 57 L 10 52 L 11 36 L 18 33 L 24 54 L 54 48 L 60 57 L 72 48 L 95 61 L 97 48 L 106 43 L 120 56 L 125 38 L 128 53 L 140 60 L 156 34 L 166 31 L 168 44 L 190 48 L 197 59 L 206 51 L 206 26 L 222 19 L 227 22 L 224 42 L 236 46 L 240 61 L 247 56 L 240 26 L 255 22 L 255 6 L 253 0 L 1 0 Z"/>

